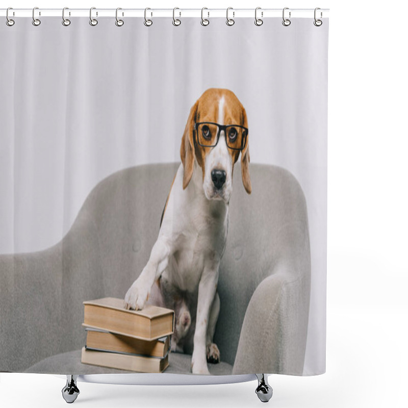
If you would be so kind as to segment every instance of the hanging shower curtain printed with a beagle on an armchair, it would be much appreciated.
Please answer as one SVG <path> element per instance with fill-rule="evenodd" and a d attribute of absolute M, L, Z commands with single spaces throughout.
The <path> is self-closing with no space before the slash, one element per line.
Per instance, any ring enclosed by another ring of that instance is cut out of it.
<path fill-rule="evenodd" d="M 37 17 L 1 23 L 0 371 L 323 373 L 328 19 Z M 92 349 L 138 340 L 105 298 L 174 312 L 163 355 Z"/>

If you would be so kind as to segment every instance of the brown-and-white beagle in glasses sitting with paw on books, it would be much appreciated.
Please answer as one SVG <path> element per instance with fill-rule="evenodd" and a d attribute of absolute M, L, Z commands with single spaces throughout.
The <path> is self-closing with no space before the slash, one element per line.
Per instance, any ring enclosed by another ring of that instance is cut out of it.
<path fill-rule="evenodd" d="M 180 148 L 182 163 L 167 197 L 158 239 L 124 297 L 124 308 L 133 310 L 143 309 L 147 300 L 170 309 L 179 304 L 175 318 L 181 321 L 176 322 L 172 341 L 190 337 L 194 374 L 209 374 L 207 362 L 219 361 L 213 343 L 220 308 L 218 268 L 228 230 L 233 169 L 240 154 L 242 182 L 249 194 L 245 109 L 232 91 L 208 89 L 191 108 Z M 172 345 L 173 350 L 180 348 Z"/>

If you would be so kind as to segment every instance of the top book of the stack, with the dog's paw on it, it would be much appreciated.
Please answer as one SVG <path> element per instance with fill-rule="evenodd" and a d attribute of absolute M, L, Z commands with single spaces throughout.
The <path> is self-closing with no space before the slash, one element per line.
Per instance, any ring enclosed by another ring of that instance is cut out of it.
<path fill-rule="evenodd" d="M 83 326 L 151 341 L 173 333 L 174 311 L 154 305 L 127 310 L 123 299 L 105 297 L 84 302 Z"/>

